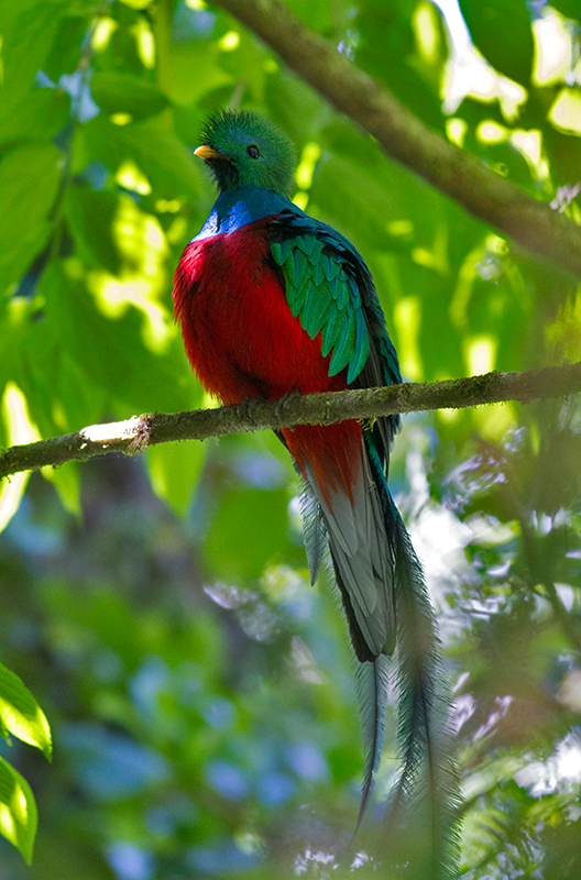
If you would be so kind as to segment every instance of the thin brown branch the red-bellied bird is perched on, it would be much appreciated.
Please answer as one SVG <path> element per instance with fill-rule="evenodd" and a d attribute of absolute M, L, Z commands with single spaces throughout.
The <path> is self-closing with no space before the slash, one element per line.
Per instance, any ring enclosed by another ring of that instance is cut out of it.
<path fill-rule="evenodd" d="M 581 362 L 525 373 L 485 373 L 445 382 L 404 383 L 335 394 L 289 395 L 282 400 L 253 398 L 237 406 L 194 413 L 134 416 L 127 421 L 92 425 L 77 433 L 11 447 L 0 455 L 0 477 L 67 461 L 86 461 L 109 452 L 136 454 L 171 440 L 204 440 L 229 433 L 331 425 L 396 413 L 461 409 L 507 400 L 528 403 L 581 392 Z"/>

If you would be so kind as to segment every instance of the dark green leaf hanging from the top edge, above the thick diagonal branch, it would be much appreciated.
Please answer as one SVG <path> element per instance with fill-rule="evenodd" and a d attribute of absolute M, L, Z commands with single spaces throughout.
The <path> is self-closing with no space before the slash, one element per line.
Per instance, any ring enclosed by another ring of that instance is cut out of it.
<path fill-rule="evenodd" d="M 524 0 L 460 0 L 472 41 L 504 76 L 530 84 L 533 30 Z"/>

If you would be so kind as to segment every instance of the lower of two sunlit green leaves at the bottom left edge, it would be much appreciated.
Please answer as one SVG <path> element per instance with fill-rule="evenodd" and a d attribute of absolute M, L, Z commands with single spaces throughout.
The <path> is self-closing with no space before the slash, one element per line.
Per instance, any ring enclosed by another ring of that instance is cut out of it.
<path fill-rule="evenodd" d="M 37 821 L 36 803 L 29 783 L 0 758 L 0 834 L 22 853 L 29 865 Z"/>

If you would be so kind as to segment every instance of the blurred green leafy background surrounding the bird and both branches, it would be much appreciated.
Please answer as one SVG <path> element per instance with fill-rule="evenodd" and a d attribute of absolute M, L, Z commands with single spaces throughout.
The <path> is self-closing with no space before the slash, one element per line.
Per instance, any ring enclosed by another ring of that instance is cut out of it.
<path fill-rule="evenodd" d="M 430 128 L 580 221 L 574 0 L 288 2 Z M 364 254 L 407 380 L 579 359 L 578 282 L 386 158 L 200 0 L 0 3 L 0 442 L 208 405 L 171 314 L 213 200 L 208 112 L 297 145 L 296 200 Z M 486 61 L 484 61 L 484 58 Z M 489 64 L 490 63 L 490 64 Z M 308 585 L 296 479 L 266 435 L 166 444 L 6 482 L 0 660 L 54 760 L 2 756 L 39 806 L 0 878 L 381 873 L 349 849 L 362 756 L 351 659 Z M 574 402 L 407 417 L 392 485 L 456 688 L 463 877 L 581 873 L 581 510 Z M 6 828 L 4 828 L 6 829 Z"/>

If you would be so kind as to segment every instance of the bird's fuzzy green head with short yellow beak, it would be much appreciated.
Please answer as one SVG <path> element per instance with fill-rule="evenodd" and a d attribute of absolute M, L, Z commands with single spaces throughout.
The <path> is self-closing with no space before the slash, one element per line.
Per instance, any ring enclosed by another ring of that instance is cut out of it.
<path fill-rule="evenodd" d="M 295 148 L 268 119 L 245 111 L 223 110 L 211 117 L 195 151 L 209 165 L 222 193 L 257 186 L 290 196 Z"/>

